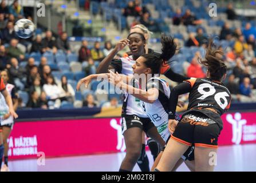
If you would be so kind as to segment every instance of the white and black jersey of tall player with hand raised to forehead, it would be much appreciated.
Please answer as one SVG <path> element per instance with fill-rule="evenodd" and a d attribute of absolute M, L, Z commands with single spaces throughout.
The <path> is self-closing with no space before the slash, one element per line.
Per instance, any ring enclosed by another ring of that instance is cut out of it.
<path fill-rule="evenodd" d="M 132 65 L 135 64 L 135 60 L 133 60 L 132 55 L 126 58 L 119 58 L 111 62 L 111 66 L 118 73 L 122 73 L 124 75 L 132 75 Z M 136 87 L 136 86 L 134 86 Z M 145 112 L 141 109 L 140 100 L 136 97 L 133 97 L 131 94 L 124 94 L 123 108 L 122 108 L 122 116 L 126 115 L 136 115 L 141 118 L 147 118 Z"/>

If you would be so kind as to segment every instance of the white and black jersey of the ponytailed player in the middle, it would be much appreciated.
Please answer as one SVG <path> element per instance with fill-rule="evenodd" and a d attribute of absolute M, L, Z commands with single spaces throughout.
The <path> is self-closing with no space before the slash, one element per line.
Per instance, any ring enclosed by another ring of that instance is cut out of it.
<path fill-rule="evenodd" d="M 153 124 L 156 126 L 157 131 L 164 141 L 167 142 L 170 137 L 168 130 L 168 105 L 170 96 L 170 87 L 168 83 L 160 78 L 151 78 L 147 82 L 146 90 L 156 88 L 159 90 L 159 96 L 153 104 L 141 101 L 144 112 L 151 119 Z M 177 115 L 177 119 L 179 116 Z M 179 120 L 179 119 L 178 119 Z"/>

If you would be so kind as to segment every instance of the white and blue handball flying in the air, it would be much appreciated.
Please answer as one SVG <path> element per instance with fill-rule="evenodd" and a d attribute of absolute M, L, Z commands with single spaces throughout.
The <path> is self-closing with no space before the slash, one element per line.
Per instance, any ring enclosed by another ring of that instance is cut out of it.
<path fill-rule="evenodd" d="M 30 38 L 35 30 L 35 25 L 29 19 L 19 19 L 14 25 L 14 31 L 20 38 Z"/>

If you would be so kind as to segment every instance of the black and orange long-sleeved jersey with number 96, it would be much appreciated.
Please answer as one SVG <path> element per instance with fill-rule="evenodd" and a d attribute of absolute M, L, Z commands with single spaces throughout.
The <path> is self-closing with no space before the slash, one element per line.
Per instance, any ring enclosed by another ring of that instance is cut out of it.
<path fill-rule="evenodd" d="M 214 120 L 223 128 L 220 116 L 230 108 L 231 94 L 227 87 L 209 78 L 188 79 L 171 90 L 169 101 L 169 118 L 174 119 L 176 105 L 180 94 L 190 93 L 188 110 L 200 112 Z"/>

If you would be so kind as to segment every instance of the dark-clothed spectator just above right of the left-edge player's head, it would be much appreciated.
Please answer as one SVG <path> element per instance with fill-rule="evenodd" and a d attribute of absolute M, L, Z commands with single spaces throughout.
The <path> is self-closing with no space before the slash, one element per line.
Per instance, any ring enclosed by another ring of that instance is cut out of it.
<path fill-rule="evenodd" d="M 19 67 L 19 63 L 16 58 L 11 58 L 10 63 L 11 66 L 9 68 L 9 73 L 11 80 L 13 80 L 14 78 L 22 79 L 23 77 L 25 77 L 26 70 L 22 67 Z"/>

